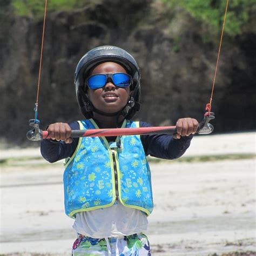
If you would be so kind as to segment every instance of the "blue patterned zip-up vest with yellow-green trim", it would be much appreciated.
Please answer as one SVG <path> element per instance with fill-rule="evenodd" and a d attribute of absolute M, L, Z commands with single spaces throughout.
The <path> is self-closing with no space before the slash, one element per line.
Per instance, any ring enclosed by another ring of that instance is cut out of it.
<path fill-rule="evenodd" d="M 79 121 L 80 129 L 98 129 L 93 119 Z M 122 127 L 139 127 L 125 120 Z M 109 207 L 118 200 L 149 215 L 153 210 L 151 172 L 139 135 L 120 136 L 108 143 L 105 137 L 79 138 L 77 149 L 64 171 L 65 212 Z M 116 191 L 116 188 L 117 191 Z"/>

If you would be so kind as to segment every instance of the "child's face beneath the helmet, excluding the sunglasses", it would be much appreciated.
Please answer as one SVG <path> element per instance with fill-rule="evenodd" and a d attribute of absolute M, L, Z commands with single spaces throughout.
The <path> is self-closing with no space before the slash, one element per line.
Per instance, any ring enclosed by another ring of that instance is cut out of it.
<path fill-rule="evenodd" d="M 127 73 L 123 66 L 114 62 L 104 62 L 96 66 L 90 75 L 104 74 L 104 73 Z M 130 96 L 130 87 L 118 87 L 110 80 L 104 87 L 92 90 L 87 88 L 87 95 L 96 109 L 106 112 L 114 113 L 123 109 Z"/>

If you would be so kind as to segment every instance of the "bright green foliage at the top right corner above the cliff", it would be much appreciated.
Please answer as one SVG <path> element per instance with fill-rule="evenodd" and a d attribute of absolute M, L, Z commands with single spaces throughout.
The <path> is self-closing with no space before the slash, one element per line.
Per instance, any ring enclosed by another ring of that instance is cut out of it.
<path fill-rule="evenodd" d="M 180 6 L 192 17 L 208 25 L 212 32 L 222 28 L 226 1 L 225 0 L 163 0 L 171 8 Z M 231 0 L 228 4 L 225 33 L 230 36 L 239 35 L 242 26 L 247 25 L 250 13 L 255 11 L 256 0 Z"/>

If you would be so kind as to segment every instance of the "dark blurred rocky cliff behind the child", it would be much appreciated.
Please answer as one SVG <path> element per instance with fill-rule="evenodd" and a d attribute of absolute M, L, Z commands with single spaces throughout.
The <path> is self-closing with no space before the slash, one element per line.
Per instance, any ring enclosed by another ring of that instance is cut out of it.
<path fill-rule="evenodd" d="M 24 143 L 36 101 L 43 19 L 4 21 L 1 136 Z M 137 59 L 142 71 L 137 119 L 153 125 L 173 125 L 188 116 L 200 120 L 211 95 L 218 41 L 205 41 L 197 21 L 160 1 L 122 1 L 120 6 L 120 1 L 105 0 L 49 13 L 39 90 L 41 125 L 82 117 L 73 73 L 80 57 L 99 45 L 117 45 Z M 255 33 L 224 37 L 212 103 L 216 132 L 255 129 L 255 43 Z"/>

